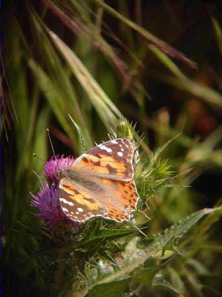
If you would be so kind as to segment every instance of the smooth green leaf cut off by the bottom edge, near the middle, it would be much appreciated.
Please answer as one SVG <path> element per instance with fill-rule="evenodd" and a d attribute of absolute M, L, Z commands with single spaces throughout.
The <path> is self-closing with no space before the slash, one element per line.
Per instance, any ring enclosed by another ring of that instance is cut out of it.
<path fill-rule="evenodd" d="M 87 297 L 121 297 L 131 278 L 94 286 Z"/>

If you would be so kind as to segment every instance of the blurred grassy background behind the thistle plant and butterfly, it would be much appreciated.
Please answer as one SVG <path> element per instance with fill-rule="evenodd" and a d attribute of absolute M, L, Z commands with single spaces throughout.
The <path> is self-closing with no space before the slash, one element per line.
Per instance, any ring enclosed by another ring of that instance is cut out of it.
<path fill-rule="evenodd" d="M 220 1 L 8 0 L 2 3 L 2 283 L 4 296 L 39 296 L 35 257 L 41 222 L 29 192 L 34 172 L 56 153 L 78 156 L 108 140 L 122 116 L 144 133 L 148 154 L 162 153 L 186 188 L 148 199 L 149 234 L 222 197 L 222 3 Z M 194 61 L 194 62 L 192 62 Z M 184 296 L 221 296 L 221 221 L 189 242 L 168 269 Z M 29 258 L 29 260 L 26 260 Z M 210 288 L 210 289 L 209 289 Z M 144 288 L 141 296 L 171 296 Z"/>

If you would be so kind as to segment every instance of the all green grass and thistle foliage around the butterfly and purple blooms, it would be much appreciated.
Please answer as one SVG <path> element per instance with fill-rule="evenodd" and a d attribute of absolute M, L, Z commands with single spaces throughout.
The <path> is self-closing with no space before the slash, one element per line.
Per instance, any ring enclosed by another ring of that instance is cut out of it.
<path fill-rule="evenodd" d="M 3 16 L 4 296 L 221 296 L 220 4 L 9 0 Z M 66 156 L 132 141 L 130 222 L 35 215 L 47 128 Z"/>

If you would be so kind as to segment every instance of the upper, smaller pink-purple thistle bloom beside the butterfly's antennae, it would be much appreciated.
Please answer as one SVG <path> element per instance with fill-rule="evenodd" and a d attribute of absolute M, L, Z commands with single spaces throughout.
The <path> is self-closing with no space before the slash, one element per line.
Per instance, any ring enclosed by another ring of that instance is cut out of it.
<path fill-rule="evenodd" d="M 45 162 L 44 169 L 45 173 L 43 174 L 45 177 L 49 178 L 52 182 L 56 183 L 57 179 L 55 177 L 55 173 L 59 169 L 66 169 L 67 167 L 70 167 L 75 158 L 74 157 L 66 157 L 64 158 L 64 155 L 52 156 L 49 161 Z"/>

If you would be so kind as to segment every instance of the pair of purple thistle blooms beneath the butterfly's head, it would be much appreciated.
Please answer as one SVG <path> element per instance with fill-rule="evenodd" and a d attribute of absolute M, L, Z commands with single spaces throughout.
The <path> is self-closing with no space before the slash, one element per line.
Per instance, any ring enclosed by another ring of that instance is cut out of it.
<path fill-rule="evenodd" d="M 55 173 L 59 169 L 66 169 L 71 166 L 74 162 L 74 157 L 66 157 L 64 155 L 59 157 L 53 156 L 49 161 L 45 162 L 44 169 L 45 173 L 43 175 L 49 178 L 51 181 L 57 183 L 57 179 L 55 177 Z M 59 191 L 56 188 L 56 185 L 53 183 L 51 186 L 45 181 L 43 182 L 43 186 L 40 187 L 40 191 L 37 195 L 30 193 L 33 200 L 31 201 L 31 205 L 37 207 L 40 212 L 36 214 L 37 217 L 43 219 L 45 224 L 50 228 L 55 225 L 56 222 L 66 220 L 70 222 L 75 227 L 78 227 L 79 224 L 74 222 L 69 217 L 65 215 L 62 211 L 59 202 Z"/>

